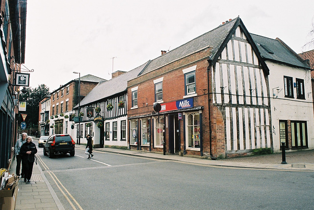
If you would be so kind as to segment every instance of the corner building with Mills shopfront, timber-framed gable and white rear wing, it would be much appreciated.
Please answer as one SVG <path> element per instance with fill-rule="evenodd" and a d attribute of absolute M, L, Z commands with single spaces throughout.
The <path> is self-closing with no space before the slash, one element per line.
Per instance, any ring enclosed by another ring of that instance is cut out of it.
<path fill-rule="evenodd" d="M 280 75 L 278 81 L 276 73 L 288 68 L 308 92 L 304 75 L 310 71 L 295 52 L 275 41 L 250 34 L 235 18 L 169 52 L 162 51 L 128 81 L 129 148 L 212 159 L 247 155 L 256 149 L 272 152 L 274 145 L 279 151 L 281 121 L 271 117 L 270 88 L 278 85 L 287 91 L 286 77 Z M 313 147 L 313 132 L 304 129 L 313 125 L 313 109 L 308 109 L 312 101 L 288 97 L 273 100 L 289 100 L 290 106 L 276 104 L 276 109 L 287 114 L 285 110 L 301 106 L 309 113 L 305 116 L 295 109 L 288 117 L 296 119 L 289 121 L 291 126 L 303 128 L 304 136 L 310 136 L 302 148 Z M 296 136 L 301 134 L 296 131 Z"/>

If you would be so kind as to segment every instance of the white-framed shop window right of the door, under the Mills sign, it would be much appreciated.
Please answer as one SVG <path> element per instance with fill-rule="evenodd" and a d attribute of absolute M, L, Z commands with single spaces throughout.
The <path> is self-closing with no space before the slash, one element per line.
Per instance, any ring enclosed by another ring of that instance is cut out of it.
<path fill-rule="evenodd" d="M 199 148 L 200 147 L 200 114 L 199 113 L 189 113 L 186 117 L 186 144 L 189 148 Z"/>

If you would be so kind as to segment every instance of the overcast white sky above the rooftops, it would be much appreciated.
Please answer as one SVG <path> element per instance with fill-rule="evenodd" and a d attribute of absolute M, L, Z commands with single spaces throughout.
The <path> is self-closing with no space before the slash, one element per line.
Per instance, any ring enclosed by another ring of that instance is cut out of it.
<path fill-rule="evenodd" d="M 296 53 L 310 40 L 314 0 L 28 0 L 25 66 L 50 91 L 92 74 L 132 70 L 240 16 L 250 33 Z"/>

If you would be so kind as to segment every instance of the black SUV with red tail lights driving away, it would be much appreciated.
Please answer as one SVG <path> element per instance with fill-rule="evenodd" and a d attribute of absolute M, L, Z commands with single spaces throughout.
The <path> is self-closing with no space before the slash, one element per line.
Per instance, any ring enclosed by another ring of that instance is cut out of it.
<path fill-rule="evenodd" d="M 75 142 L 69 134 L 53 134 L 44 144 L 44 155 L 52 158 L 54 154 L 75 155 Z"/>

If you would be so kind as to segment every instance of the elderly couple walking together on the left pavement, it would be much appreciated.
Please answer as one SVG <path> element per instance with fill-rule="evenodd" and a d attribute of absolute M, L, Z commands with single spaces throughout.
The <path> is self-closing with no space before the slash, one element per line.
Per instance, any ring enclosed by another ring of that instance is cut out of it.
<path fill-rule="evenodd" d="M 32 137 L 26 133 L 22 133 L 22 138 L 18 139 L 14 146 L 16 154 L 16 175 L 22 175 L 24 182 L 30 182 L 35 162 L 35 154 L 37 153 L 36 145 L 32 142 Z M 20 174 L 22 161 L 22 173 Z"/>

